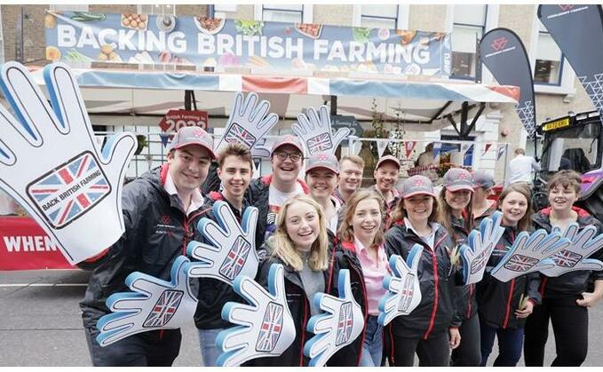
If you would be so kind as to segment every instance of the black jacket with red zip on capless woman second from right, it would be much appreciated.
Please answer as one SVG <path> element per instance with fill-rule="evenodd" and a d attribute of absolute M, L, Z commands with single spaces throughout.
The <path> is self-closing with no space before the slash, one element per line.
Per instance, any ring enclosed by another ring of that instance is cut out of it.
<path fill-rule="evenodd" d="M 542 300 L 538 293 L 540 279 L 537 272 L 521 275 L 507 282 L 498 281 L 490 275 L 492 269 L 511 248 L 519 233 L 514 227 L 503 227 L 503 236 L 488 260 L 484 278 L 477 285 L 480 321 L 492 328 L 522 328 L 526 318 L 515 317 L 515 310 L 520 307 L 522 295 L 527 296 L 534 305 L 540 304 Z"/>

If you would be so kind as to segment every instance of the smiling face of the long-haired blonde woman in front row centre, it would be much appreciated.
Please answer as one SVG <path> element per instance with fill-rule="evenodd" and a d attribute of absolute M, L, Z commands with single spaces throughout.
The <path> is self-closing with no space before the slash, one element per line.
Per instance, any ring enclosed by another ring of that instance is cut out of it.
<path fill-rule="evenodd" d="M 306 202 L 294 202 L 287 209 L 285 228 L 298 250 L 310 250 L 320 233 L 318 211 Z"/>

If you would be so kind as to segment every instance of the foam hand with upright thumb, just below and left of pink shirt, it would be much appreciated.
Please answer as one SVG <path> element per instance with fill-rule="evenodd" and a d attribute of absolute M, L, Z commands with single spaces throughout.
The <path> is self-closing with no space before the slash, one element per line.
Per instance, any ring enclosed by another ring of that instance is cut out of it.
<path fill-rule="evenodd" d="M 322 367 L 339 349 L 352 344 L 364 328 L 361 305 L 353 298 L 349 270 L 339 271 L 339 297 L 324 293 L 314 295 L 314 305 L 326 313 L 314 315 L 307 330 L 314 335 L 304 346 L 311 367 Z"/>

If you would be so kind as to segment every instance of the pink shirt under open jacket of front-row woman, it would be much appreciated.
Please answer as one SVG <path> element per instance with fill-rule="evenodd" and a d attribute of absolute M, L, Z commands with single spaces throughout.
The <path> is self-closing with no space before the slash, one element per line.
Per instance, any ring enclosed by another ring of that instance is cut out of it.
<path fill-rule="evenodd" d="M 387 274 L 387 256 L 383 244 L 377 249 L 377 262 L 369 256 L 369 251 L 364 248 L 361 241 L 354 240 L 356 255 L 362 266 L 362 276 L 367 288 L 367 304 L 369 306 L 369 315 L 378 315 L 379 299 L 385 295 L 383 280 Z"/>

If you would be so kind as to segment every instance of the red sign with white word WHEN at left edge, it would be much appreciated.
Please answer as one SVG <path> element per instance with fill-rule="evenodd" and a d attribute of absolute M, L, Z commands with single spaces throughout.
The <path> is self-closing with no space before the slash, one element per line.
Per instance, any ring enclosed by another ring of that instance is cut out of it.
<path fill-rule="evenodd" d="M 31 218 L 0 218 L 0 270 L 73 269 Z"/>

